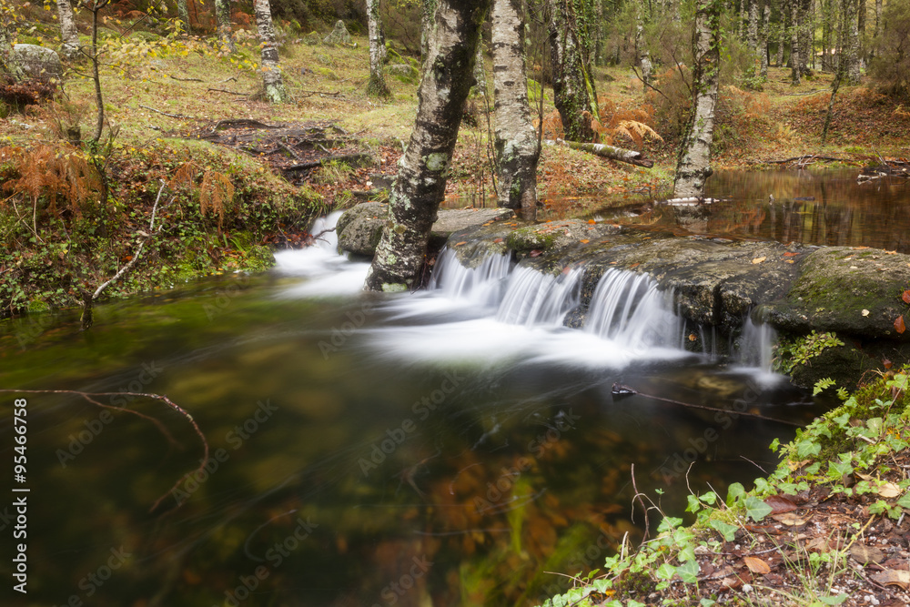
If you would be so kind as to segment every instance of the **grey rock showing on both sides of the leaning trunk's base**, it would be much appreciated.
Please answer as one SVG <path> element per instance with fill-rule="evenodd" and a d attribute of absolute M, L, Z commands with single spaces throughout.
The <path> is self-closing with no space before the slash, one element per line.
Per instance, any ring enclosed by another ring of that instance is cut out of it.
<path fill-rule="evenodd" d="M 385 202 L 365 202 L 349 208 L 339 218 L 336 228 L 339 248 L 356 255 L 372 257 L 379 245 L 382 228 L 388 221 L 388 214 L 389 203 Z M 443 208 L 430 231 L 430 241 L 442 244 L 454 232 L 513 216 L 510 208 Z"/>

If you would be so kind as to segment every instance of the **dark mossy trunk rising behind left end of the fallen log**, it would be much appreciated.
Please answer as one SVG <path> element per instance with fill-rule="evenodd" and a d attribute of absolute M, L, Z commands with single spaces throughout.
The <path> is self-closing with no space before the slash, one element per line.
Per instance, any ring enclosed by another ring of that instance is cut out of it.
<path fill-rule="evenodd" d="M 584 2 L 547 0 L 550 9 L 550 47 L 553 104 L 560 112 L 562 131 L 570 141 L 591 141 L 591 118 L 597 117 L 597 92 L 591 67 L 585 62 L 591 39 L 582 25 Z"/>

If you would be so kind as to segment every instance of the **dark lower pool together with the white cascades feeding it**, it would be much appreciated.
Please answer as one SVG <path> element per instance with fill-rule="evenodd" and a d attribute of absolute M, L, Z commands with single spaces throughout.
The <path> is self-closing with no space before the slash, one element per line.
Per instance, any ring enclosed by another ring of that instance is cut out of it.
<path fill-rule="evenodd" d="M 5 604 L 533 605 L 567 586 L 546 572 L 641 538 L 634 486 L 679 515 L 690 485 L 772 470 L 792 427 L 737 412 L 819 412 L 767 371 L 760 325 L 733 359 L 682 349 L 648 278 L 607 272 L 566 329 L 578 270 L 444 252 L 428 290 L 377 296 L 326 238 L 265 276 L 100 307 L 90 331 L 5 323 L 0 387 L 114 393 L 0 393 L 8 459 L 27 400 L 30 489 L 27 601 Z M 203 444 L 136 392 L 210 449 L 170 495 Z"/>

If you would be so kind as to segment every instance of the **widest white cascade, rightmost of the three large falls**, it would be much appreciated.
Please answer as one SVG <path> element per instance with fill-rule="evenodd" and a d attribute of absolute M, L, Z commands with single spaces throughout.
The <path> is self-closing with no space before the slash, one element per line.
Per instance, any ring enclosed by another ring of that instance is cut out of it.
<path fill-rule="evenodd" d="M 646 274 L 609 268 L 591 296 L 584 330 L 631 348 L 672 347 L 682 322 L 672 312 L 672 293 Z"/>

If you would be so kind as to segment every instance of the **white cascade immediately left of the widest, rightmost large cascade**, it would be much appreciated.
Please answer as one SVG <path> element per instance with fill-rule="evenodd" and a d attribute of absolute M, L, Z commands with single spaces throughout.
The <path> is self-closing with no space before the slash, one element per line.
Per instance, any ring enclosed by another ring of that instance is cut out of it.
<path fill-rule="evenodd" d="M 581 268 L 555 277 L 532 268 L 516 268 L 496 319 L 511 325 L 561 327 L 566 314 L 580 303 L 582 274 Z"/>

